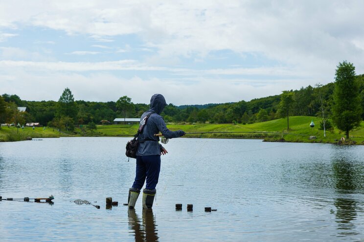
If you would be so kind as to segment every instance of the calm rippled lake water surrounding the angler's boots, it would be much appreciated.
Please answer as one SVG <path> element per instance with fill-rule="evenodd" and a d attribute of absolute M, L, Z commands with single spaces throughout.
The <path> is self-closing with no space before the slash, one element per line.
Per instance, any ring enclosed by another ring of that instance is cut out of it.
<path fill-rule="evenodd" d="M 147 212 L 141 196 L 135 211 L 122 205 L 129 139 L 0 143 L 0 196 L 55 197 L 0 201 L 1 241 L 364 241 L 363 146 L 171 139 Z M 106 197 L 119 206 L 106 209 Z"/>

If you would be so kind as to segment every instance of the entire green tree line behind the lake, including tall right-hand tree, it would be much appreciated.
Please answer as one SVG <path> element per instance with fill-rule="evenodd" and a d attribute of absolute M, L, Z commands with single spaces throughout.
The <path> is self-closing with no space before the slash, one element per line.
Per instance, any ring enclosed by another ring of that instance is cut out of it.
<path fill-rule="evenodd" d="M 354 116 L 358 115 L 360 120 L 364 118 L 364 75 L 356 76 L 355 67 L 344 61 L 337 66 L 335 76 L 334 83 L 318 83 L 315 87 L 284 90 L 279 95 L 250 101 L 183 106 L 169 104 L 161 115 L 166 122 L 233 124 L 249 124 L 286 117 L 288 130 L 289 116 L 318 116 L 322 120 L 321 128 L 330 130 L 335 124 L 348 133 L 347 128 L 343 128 L 340 122 L 352 123 Z M 347 100 L 348 98 L 351 99 Z M 342 109 L 349 106 L 353 106 L 350 111 Z M 27 110 L 22 113 L 17 107 L 26 107 Z M 25 101 L 15 94 L 2 94 L 0 123 L 39 122 L 44 126 L 72 131 L 75 125 L 93 126 L 107 121 L 113 122 L 116 117 L 137 118 L 148 109 L 148 104 L 134 104 L 128 96 L 109 102 L 74 100 L 69 88 L 63 91 L 58 102 Z M 343 116 L 342 113 L 346 114 Z M 357 126 L 358 122 L 354 122 L 349 130 Z"/>

